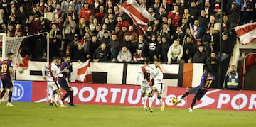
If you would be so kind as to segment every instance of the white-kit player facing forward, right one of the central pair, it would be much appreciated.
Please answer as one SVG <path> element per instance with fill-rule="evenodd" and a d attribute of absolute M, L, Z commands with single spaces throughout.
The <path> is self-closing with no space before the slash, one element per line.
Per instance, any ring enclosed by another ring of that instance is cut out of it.
<path fill-rule="evenodd" d="M 160 67 L 160 60 L 155 60 L 154 61 L 154 65 L 156 67 L 156 75 L 154 76 L 154 85 L 152 86 L 152 91 L 156 92 L 157 95 L 157 99 L 159 99 L 160 104 L 161 104 L 161 111 L 164 111 L 164 101 L 161 99 L 161 94 L 163 93 L 163 89 L 164 89 L 164 74 L 163 71 L 161 70 Z"/>

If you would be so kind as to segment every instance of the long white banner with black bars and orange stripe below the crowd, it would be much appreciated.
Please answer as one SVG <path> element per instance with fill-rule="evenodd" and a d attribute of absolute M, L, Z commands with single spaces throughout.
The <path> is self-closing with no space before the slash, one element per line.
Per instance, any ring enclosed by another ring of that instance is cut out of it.
<path fill-rule="evenodd" d="M 17 80 L 43 81 L 41 68 L 47 62 L 29 62 L 28 69 L 16 73 Z M 71 82 L 75 82 L 79 68 L 85 63 L 73 62 Z M 144 64 L 90 62 L 90 72 L 94 83 L 135 84 L 139 67 Z M 154 67 L 154 64 L 150 65 Z M 86 68 L 86 67 L 85 67 Z M 203 64 L 161 64 L 164 83 L 169 87 L 196 87 L 203 74 Z M 83 78 L 83 77 L 82 77 Z"/>

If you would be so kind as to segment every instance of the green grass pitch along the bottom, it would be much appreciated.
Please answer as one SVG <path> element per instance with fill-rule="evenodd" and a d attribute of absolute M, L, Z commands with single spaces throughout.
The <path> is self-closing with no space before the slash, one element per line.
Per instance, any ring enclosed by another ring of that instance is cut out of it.
<path fill-rule="evenodd" d="M 254 111 L 221 111 L 154 107 L 154 113 L 143 108 L 78 104 L 77 107 L 55 108 L 46 103 L 13 102 L 15 107 L 0 104 L 0 126 L 256 126 Z"/>

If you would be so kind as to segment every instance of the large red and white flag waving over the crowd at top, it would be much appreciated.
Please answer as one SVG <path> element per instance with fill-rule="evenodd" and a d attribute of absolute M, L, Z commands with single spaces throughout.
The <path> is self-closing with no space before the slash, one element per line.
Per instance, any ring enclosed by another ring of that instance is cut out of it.
<path fill-rule="evenodd" d="M 129 17 L 132 18 L 132 21 L 134 21 L 134 24 L 140 26 L 143 31 L 146 31 L 147 23 L 155 20 L 155 18 L 151 16 L 146 9 L 139 6 L 135 0 L 127 0 L 122 4 L 119 4 L 119 8 L 127 13 Z"/>

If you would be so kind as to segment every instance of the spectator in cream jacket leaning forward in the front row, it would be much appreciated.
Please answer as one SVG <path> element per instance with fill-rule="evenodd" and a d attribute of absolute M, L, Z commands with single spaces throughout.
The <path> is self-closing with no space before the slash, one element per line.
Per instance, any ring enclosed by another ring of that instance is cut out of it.
<path fill-rule="evenodd" d="M 181 57 L 183 56 L 183 48 L 179 45 L 178 40 L 174 40 L 174 43 L 170 46 L 167 57 L 168 64 L 171 62 L 181 62 Z"/>

